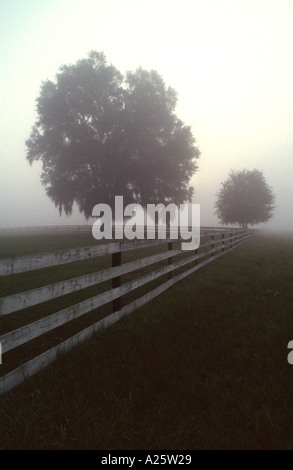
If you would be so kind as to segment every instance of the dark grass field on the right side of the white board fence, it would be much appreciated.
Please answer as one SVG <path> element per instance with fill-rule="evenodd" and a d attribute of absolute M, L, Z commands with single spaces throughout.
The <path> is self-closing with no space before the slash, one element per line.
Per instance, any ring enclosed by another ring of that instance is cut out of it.
<path fill-rule="evenodd" d="M 0 448 L 293 449 L 292 280 L 247 241 L 0 397 Z"/>

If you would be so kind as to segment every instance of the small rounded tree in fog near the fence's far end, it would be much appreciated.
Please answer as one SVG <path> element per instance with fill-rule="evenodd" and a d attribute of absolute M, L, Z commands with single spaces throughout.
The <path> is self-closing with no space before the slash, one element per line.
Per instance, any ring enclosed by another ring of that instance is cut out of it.
<path fill-rule="evenodd" d="M 217 194 L 216 214 L 223 224 L 247 228 L 272 217 L 274 200 L 261 171 L 231 171 Z"/>

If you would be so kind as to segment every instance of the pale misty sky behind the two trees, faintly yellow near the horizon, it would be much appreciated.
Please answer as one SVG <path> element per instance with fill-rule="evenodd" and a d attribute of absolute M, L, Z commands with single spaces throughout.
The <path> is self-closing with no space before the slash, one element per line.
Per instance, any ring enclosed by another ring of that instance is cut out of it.
<path fill-rule="evenodd" d="M 0 0 L 0 39 L 0 227 L 86 223 L 59 217 L 25 140 L 41 82 L 97 50 L 177 91 L 202 225 L 229 171 L 257 168 L 277 196 L 266 227 L 293 230 L 293 0 Z"/>

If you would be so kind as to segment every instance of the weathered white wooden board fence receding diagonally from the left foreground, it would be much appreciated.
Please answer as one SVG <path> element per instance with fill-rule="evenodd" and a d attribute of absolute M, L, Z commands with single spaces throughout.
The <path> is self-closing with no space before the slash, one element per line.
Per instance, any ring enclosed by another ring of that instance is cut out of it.
<path fill-rule="evenodd" d="M 69 280 L 0 298 L 1 326 L 1 317 L 6 315 L 14 312 L 17 312 L 17 315 L 21 315 L 22 310 L 28 307 L 74 293 L 76 290 L 98 285 L 107 280 L 111 280 L 112 282 L 112 288 L 105 292 L 87 298 L 82 302 L 40 318 L 32 323 L 25 324 L 17 329 L 12 329 L 12 331 L 8 331 L 5 334 L 1 334 L 0 351 L 2 351 L 3 354 L 3 364 L 5 364 L 5 353 L 8 351 L 33 341 L 61 325 L 68 324 L 68 322 L 98 307 L 112 303 L 112 313 L 90 326 L 87 326 L 82 331 L 79 331 L 77 334 L 74 334 L 56 346 L 37 355 L 33 359 L 21 364 L 14 370 L 2 375 L 2 377 L 0 377 L 0 394 L 12 390 L 25 379 L 48 366 L 57 359 L 60 353 L 69 351 L 75 345 L 90 338 L 94 333 L 112 325 L 125 315 L 130 314 L 145 303 L 154 299 L 186 276 L 189 276 L 206 264 L 222 256 L 227 251 L 234 249 L 250 238 L 253 233 L 252 230 L 242 229 L 205 229 L 201 233 L 200 247 L 193 252 L 182 252 L 180 247 L 176 248 L 175 245 L 179 246 L 177 240 L 123 240 L 94 246 L 59 250 L 52 253 L 1 258 L 0 276 L 11 276 L 52 266 L 60 266 L 60 269 L 62 269 L 62 265 L 67 263 L 76 261 L 84 262 L 85 260 L 105 255 L 112 256 L 112 267 L 110 268 L 100 269 L 91 274 L 85 274 Z M 151 250 L 158 245 L 161 245 L 162 249 L 159 253 L 122 263 L 123 253 L 139 248 L 145 248 L 147 252 L 147 250 Z M 162 261 L 166 261 L 168 264 L 122 284 L 122 276 Z M 182 271 L 183 267 L 186 268 L 184 271 Z M 176 270 L 179 270 L 179 272 L 176 273 Z M 41 272 L 42 271 L 36 271 L 39 276 Z M 167 280 L 163 280 L 160 285 L 147 291 L 147 293 L 129 302 L 127 305 L 121 306 L 122 296 L 164 275 L 167 275 Z M 1 367 L 0 365 L 0 374 Z"/>

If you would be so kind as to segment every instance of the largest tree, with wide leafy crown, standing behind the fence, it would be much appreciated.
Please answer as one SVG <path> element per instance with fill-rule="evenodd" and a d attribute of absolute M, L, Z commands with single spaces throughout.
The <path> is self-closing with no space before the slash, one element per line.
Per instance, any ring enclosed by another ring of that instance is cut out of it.
<path fill-rule="evenodd" d="M 27 159 L 42 162 L 47 195 L 68 215 L 97 203 L 191 200 L 199 150 L 176 116 L 176 92 L 155 71 L 125 77 L 103 53 L 60 67 L 42 83 Z"/>

